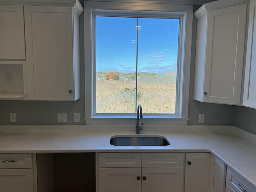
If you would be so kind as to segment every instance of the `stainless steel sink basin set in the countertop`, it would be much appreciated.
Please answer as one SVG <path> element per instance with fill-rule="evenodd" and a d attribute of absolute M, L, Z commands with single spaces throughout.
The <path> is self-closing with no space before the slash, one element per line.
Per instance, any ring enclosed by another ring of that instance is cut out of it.
<path fill-rule="evenodd" d="M 112 136 L 110 144 L 115 146 L 166 146 L 170 142 L 162 136 Z"/>

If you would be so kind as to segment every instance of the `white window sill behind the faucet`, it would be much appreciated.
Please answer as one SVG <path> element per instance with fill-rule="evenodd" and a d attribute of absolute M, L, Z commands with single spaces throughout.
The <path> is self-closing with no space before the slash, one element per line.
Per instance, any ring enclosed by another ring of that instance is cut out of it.
<path fill-rule="evenodd" d="M 86 125 L 136 125 L 137 116 L 96 116 L 84 118 Z M 144 125 L 187 125 L 189 118 L 170 116 L 144 116 Z"/>

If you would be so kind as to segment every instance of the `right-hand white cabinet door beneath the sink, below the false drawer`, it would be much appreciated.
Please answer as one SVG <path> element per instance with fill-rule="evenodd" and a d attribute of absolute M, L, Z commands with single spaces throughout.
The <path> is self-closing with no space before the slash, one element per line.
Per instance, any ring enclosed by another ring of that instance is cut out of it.
<path fill-rule="evenodd" d="M 141 182 L 142 192 L 183 192 L 183 168 L 142 168 Z"/>

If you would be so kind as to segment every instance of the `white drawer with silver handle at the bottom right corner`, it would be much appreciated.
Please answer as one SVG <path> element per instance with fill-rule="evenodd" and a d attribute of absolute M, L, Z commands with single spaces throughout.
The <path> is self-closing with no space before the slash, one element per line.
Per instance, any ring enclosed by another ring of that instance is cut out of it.
<path fill-rule="evenodd" d="M 229 167 L 227 168 L 226 184 L 228 184 L 235 192 L 242 192 L 243 190 L 246 192 L 256 191 L 255 188 L 253 188 L 248 182 L 246 182 Z"/>

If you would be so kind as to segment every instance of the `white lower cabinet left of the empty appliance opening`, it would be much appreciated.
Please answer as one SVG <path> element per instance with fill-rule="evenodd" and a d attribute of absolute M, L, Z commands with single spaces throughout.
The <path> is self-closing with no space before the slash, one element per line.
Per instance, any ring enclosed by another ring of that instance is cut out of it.
<path fill-rule="evenodd" d="M 34 192 L 32 154 L 0 154 L 0 191 Z"/>

